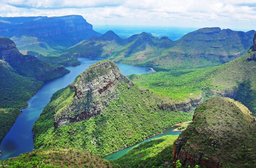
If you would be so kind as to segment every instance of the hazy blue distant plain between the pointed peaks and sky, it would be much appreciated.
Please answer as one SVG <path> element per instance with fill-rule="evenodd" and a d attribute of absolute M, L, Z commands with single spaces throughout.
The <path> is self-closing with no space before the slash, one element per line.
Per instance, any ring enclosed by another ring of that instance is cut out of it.
<path fill-rule="evenodd" d="M 151 33 L 153 36 L 161 38 L 167 36 L 169 39 L 175 41 L 183 37 L 189 32 L 195 31 L 199 28 L 186 27 L 159 27 L 159 26 L 120 26 L 120 25 L 93 25 L 93 30 L 99 33 L 106 33 L 109 30 L 115 32 L 119 37 L 127 39 L 134 34 L 142 32 Z"/>

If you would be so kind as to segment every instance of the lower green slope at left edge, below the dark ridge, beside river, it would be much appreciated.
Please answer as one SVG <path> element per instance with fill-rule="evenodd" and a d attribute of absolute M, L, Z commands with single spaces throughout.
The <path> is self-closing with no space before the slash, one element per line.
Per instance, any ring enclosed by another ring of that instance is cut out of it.
<path fill-rule="evenodd" d="M 21 113 L 19 108 L 42 86 L 35 81 L 15 73 L 9 64 L 0 59 L 0 140 Z"/>

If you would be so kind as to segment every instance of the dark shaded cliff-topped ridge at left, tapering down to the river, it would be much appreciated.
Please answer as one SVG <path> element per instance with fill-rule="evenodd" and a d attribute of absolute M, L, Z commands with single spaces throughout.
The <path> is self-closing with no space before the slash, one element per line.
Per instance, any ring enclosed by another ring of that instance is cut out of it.
<path fill-rule="evenodd" d="M 8 62 L 19 75 L 35 80 L 53 80 L 70 72 L 63 66 L 51 65 L 35 56 L 22 55 L 14 42 L 6 37 L 0 37 L 0 54 L 0 59 Z"/>

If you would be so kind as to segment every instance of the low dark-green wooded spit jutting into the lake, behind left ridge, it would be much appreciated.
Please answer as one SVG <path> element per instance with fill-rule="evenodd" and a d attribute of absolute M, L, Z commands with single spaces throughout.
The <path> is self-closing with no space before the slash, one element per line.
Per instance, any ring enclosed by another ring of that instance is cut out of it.
<path fill-rule="evenodd" d="M 77 58 L 71 57 L 59 57 L 59 56 L 37 56 L 37 58 L 41 61 L 48 62 L 50 64 L 55 65 L 63 65 L 63 66 L 78 66 L 81 64 Z"/>

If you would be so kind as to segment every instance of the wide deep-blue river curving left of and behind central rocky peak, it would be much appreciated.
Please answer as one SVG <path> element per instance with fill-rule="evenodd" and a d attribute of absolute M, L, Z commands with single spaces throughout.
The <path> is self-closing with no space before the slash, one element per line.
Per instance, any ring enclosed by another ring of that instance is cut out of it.
<path fill-rule="evenodd" d="M 69 74 L 63 75 L 55 80 L 45 82 L 45 84 L 27 102 L 29 106 L 22 109 L 22 113 L 17 117 L 10 130 L 0 142 L 2 155 L 0 160 L 19 156 L 21 153 L 30 152 L 34 149 L 32 127 L 39 117 L 43 108 L 50 101 L 53 93 L 73 82 L 76 76 L 81 74 L 91 64 L 103 60 L 103 58 L 78 58 L 80 66 L 66 67 Z M 150 68 L 135 67 L 127 64 L 117 64 L 122 74 L 144 74 L 152 73 Z"/>

